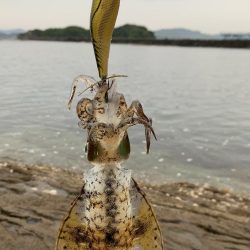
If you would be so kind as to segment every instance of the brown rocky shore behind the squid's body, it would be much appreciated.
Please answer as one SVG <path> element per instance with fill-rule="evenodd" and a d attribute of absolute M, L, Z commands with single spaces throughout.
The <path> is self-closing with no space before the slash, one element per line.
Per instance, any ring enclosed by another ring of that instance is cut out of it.
<path fill-rule="evenodd" d="M 82 173 L 0 162 L 0 249 L 54 249 Z M 140 184 L 143 186 L 143 184 Z M 250 250 L 250 196 L 209 186 L 144 186 L 166 250 Z"/>

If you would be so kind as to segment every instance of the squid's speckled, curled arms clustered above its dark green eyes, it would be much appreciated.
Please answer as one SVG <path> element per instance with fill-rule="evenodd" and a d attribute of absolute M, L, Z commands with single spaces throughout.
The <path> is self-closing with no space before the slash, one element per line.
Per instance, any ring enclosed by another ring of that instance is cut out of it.
<path fill-rule="evenodd" d="M 114 143 L 114 148 L 117 149 L 123 140 L 128 140 L 127 129 L 142 124 L 145 127 L 147 153 L 149 153 L 151 133 L 156 138 L 152 120 L 144 114 L 139 101 L 133 101 L 128 108 L 125 97 L 115 92 L 115 88 L 114 81 L 103 82 L 93 100 L 82 98 L 78 102 L 76 112 L 81 120 L 81 126 L 89 131 L 88 142 L 101 144 L 108 160 L 106 144 L 109 147 L 108 151 L 111 143 Z M 112 96 L 109 93 L 112 93 Z M 102 162 L 103 160 L 102 157 Z"/>

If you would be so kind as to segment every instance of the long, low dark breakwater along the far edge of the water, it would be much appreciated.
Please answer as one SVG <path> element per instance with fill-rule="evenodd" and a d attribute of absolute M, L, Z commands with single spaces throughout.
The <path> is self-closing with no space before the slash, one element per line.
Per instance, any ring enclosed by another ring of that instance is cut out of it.
<path fill-rule="evenodd" d="M 89 39 L 82 40 L 59 40 L 59 39 L 18 39 L 22 41 L 56 41 L 56 42 L 91 42 Z M 180 46 L 180 47 L 211 47 L 211 48 L 242 48 L 250 49 L 250 40 L 139 40 L 139 39 L 113 39 L 113 44 L 139 44 L 159 46 Z"/>

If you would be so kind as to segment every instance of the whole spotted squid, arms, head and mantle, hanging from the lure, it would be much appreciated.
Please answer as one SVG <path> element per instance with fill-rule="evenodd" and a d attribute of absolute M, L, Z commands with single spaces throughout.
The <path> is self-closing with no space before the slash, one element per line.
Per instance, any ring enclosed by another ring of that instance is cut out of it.
<path fill-rule="evenodd" d="M 76 107 L 87 129 L 88 160 L 94 165 L 84 175 L 84 186 L 65 218 L 57 250 L 162 250 L 161 232 L 152 207 L 131 171 L 121 167 L 129 157 L 127 130 L 145 127 L 147 151 L 149 119 L 139 101 L 128 107 L 116 84 L 98 85 L 94 98 L 82 98 Z"/>

